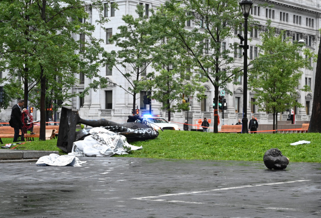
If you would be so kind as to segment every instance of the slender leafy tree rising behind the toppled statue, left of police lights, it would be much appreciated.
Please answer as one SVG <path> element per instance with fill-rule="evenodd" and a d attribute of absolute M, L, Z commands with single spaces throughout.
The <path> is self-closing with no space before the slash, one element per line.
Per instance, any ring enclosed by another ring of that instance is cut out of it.
<path fill-rule="evenodd" d="M 142 5 L 137 5 L 137 17 L 124 15 L 122 20 L 126 25 L 118 27 L 120 33 L 115 33 L 109 39 L 111 44 L 119 48 L 118 51 L 105 51 L 102 63 L 114 68 L 128 82 L 128 86 L 114 83 L 124 89 L 133 97 L 132 110 L 135 111 L 137 93 L 145 90 L 145 80 L 150 78 L 151 74 L 145 73 L 146 68 L 151 64 L 154 38 L 150 36 L 150 27 L 148 26 L 148 17 Z M 105 80 L 101 80 L 99 85 L 103 87 Z M 96 83 L 97 85 L 98 83 Z M 96 86 L 97 87 L 97 86 Z"/>

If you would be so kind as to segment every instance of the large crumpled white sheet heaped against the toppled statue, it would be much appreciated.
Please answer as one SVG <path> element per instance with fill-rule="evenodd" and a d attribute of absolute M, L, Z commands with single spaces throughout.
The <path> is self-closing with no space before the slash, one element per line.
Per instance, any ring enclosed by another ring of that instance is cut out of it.
<path fill-rule="evenodd" d="M 92 128 L 90 136 L 73 143 L 71 155 L 88 157 L 110 157 L 127 154 L 128 151 L 142 149 L 128 144 L 125 136 L 117 135 L 101 127 Z"/>

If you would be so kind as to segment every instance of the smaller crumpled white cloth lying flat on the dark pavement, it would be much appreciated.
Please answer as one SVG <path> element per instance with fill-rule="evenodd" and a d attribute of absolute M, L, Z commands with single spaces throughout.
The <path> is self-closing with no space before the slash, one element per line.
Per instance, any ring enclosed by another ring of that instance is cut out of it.
<path fill-rule="evenodd" d="M 38 159 L 37 166 L 81 166 L 86 161 L 80 161 L 73 155 L 50 154 Z"/>

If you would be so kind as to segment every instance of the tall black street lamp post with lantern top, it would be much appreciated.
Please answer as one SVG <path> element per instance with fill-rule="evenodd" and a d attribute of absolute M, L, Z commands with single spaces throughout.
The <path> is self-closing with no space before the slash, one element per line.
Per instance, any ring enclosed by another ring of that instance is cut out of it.
<path fill-rule="evenodd" d="M 252 0 L 241 0 L 239 2 L 243 16 L 244 16 L 244 82 L 243 82 L 243 119 L 242 119 L 242 133 L 248 133 L 247 127 L 247 18 L 250 15 L 250 10 L 253 5 Z"/>

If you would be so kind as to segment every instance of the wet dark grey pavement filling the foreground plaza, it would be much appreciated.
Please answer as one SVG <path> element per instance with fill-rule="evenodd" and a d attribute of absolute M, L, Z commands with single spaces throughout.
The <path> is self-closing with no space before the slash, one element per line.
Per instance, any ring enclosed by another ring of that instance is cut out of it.
<path fill-rule="evenodd" d="M 0 164 L 0 217 L 321 217 L 320 163 L 80 160 Z"/>

